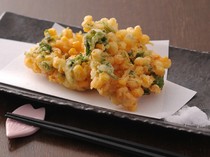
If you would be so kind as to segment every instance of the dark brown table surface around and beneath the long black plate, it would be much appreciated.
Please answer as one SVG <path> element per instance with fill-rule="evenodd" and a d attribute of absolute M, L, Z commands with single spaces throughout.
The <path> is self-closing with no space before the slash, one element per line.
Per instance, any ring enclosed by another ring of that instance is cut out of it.
<path fill-rule="evenodd" d="M 91 14 L 95 19 L 115 17 L 121 28 L 141 25 L 143 32 L 151 39 L 169 39 L 170 44 L 177 47 L 210 51 L 210 1 L 208 0 L 47 0 L 45 2 L 0 0 L 0 4 L 0 13 L 12 11 L 67 25 L 80 25 L 87 14 Z M 50 121 L 128 139 L 186 156 L 210 156 L 209 136 L 166 129 L 92 111 L 84 112 L 70 107 L 39 103 L 1 92 L 1 157 L 127 156 L 119 151 L 58 136 L 44 130 L 29 137 L 9 140 L 5 135 L 4 114 L 25 103 L 46 107 L 46 119 Z"/>

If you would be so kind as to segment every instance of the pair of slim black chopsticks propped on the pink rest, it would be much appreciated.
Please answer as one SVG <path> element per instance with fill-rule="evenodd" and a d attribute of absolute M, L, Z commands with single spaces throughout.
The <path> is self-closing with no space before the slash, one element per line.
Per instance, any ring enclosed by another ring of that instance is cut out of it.
<path fill-rule="evenodd" d="M 180 155 L 157 149 L 154 147 L 142 145 L 139 143 L 87 131 L 84 129 L 79 129 L 72 126 L 66 126 L 62 124 L 57 124 L 45 120 L 39 120 L 31 117 L 26 117 L 23 115 L 18 115 L 14 113 L 5 114 L 6 117 L 15 119 L 21 122 L 24 122 L 29 125 L 33 125 L 40 128 L 45 128 L 56 133 L 74 137 L 83 141 L 88 141 L 91 143 L 99 144 L 102 146 L 106 146 L 112 149 L 117 149 L 119 151 L 123 151 L 135 156 L 145 156 L 145 157 L 180 157 Z"/>

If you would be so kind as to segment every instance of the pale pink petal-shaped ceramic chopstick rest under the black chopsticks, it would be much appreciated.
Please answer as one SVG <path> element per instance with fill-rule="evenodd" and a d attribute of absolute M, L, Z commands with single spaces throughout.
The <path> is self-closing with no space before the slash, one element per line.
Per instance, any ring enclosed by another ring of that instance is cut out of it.
<path fill-rule="evenodd" d="M 42 107 L 34 109 L 33 106 L 30 104 L 26 104 L 17 108 L 16 110 L 13 111 L 13 113 L 41 120 L 44 120 L 45 118 L 45 108 Z M 29 136 L 34 134 L 38 130 L 39 130 L 38 127 L 27 125 L 10 118 L 7 118 L 6 120 L 6 136 L 10 139 Z"/>

